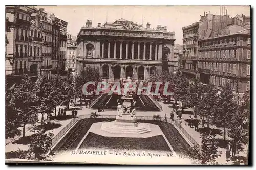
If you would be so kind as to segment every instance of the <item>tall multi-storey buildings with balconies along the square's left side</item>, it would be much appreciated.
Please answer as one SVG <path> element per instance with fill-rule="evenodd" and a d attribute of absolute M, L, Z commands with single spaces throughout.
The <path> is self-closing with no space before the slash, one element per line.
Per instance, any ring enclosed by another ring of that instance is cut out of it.
<path fill-rule="evenodd" d="M 67 25 L 44 8 L 6 6 L 7 78 L 28 75 L 37 79 L 65 70 Z"/>

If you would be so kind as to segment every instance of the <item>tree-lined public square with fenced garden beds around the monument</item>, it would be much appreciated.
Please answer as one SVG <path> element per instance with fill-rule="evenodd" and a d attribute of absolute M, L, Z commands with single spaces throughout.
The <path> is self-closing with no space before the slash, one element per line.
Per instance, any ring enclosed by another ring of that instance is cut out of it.
<path fill-rule="evenodd" d="M 96 85 L 87 87 L 93 95 L 86 96 L 82 88 L 89 81 Z M 155 71 L 137 84 L 153 82 L 150 90 L 155 92 L 155 82 L 163 82 L 160 94 L 136 95 L 135 89 L 131 96 L 136 110 L 132 123 L 143 127 L 121 126 L 112 133 L 115 128 L 103 132 L 102 126 L 118 120 L 122 96 L 107 95 L 108 90 L 95 95 L 101 81 L 99 71 L 87 67 L 75 76 L 40 76 L 36 81 L 24 77 L 15 85 L 6 84 L 6 159 L 54 161 L 63 153 L 101 148 L 172 152 L 195 164 L 247 162 L 249 92 L 238 96 L 229 84 L 215 87 L 197 79 L 190 82 L 180 72 Z M 166 82 L 171 96 L 163 95 Z M 111 89 L 114 80 L 108 84 Z"/>

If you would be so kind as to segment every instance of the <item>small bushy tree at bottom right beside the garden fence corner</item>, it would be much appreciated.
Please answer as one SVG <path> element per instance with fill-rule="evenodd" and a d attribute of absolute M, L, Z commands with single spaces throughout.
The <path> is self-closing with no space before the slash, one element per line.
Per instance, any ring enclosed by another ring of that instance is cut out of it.
<path fill-rule="evenodd" d="M 201 134 L 201 159 L 202 164 L 214 164 L 216 159 L 221 156 L 222 152 L 218 151 L 218 141 L 214 138 L 214 135 L 209 132 Z"/>

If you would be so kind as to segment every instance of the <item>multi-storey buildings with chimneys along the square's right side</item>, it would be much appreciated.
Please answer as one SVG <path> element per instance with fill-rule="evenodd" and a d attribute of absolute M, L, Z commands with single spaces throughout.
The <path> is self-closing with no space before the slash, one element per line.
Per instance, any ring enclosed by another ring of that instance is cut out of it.
<path fill-rule="evenodd" d="M 204 13 L 182 30 L 184 76 L 217 87 L 229 83 L 241 94 L 250 89 L 250 16 Z"/>

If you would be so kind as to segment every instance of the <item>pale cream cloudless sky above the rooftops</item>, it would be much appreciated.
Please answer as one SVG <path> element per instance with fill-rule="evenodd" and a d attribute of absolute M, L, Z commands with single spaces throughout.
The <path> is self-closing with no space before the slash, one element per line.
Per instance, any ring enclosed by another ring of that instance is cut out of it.
<path fill-rule="evenodd" d="M 220 6 L 36 6 L 45 8 L 48 13 L 68 22 L 67 31 L 76 36 L 87 19 L 92 20 L 92 26 L 97 23 L 114 22 L 120 18 L 151 24 L 167 26 L 167 31 L 175 32 L 175 43 L 182 45 L 182 27 L 198 22 L 205 12 L 219 15 Z M 234 17 L 237 14 L 250 16 L 250 6 L 225 6 L 227 14 Z"/>

